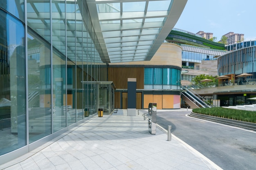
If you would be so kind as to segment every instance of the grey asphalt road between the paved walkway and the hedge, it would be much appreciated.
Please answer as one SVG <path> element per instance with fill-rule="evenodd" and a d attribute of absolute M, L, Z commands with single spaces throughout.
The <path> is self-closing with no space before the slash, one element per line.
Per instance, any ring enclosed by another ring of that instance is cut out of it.
<path fill-rule="evenodd" d="M 190 111 L 157 112 L 157 124 L 223 170 L 256 170 L 256 132 L 187 117 Z"/>

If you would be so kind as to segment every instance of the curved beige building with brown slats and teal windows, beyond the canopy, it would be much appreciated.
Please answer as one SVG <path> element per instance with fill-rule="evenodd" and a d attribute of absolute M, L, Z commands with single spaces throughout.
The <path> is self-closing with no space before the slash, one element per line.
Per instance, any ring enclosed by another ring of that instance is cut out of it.
<path fill-rule="evenodd" d="M 137 108 L 157 103 L 159 109 L 180 108 L 181 46 L 163 43 L 150 61 L 109 64 L 109 80 L 114 82 L 115 107 L 126 108 L 127 79 L 137 79 Z"/>

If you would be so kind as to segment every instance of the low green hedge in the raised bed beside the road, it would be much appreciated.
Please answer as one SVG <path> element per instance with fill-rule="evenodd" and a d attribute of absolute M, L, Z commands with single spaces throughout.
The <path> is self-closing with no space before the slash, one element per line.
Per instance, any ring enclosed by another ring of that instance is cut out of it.
<path fill-rule="evenodd" d="M 222 117 L 227 119 L 234 119 L 234 120 L 256 123 L 256 111 L 216 107 L 216 108 L 195 108 L 192 110 L 192 112 L 203 114 L 203 115 L 210 115 L 210 116 Z"/>

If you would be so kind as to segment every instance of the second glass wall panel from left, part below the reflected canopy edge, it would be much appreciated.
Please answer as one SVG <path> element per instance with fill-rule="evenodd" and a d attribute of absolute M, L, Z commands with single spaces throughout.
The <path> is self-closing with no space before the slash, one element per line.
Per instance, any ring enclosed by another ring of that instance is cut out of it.
<path fill-rule="evenodd" d="M 29 143 L 52 133 L 51 49 L 29 30 L 27 40 Z"/>

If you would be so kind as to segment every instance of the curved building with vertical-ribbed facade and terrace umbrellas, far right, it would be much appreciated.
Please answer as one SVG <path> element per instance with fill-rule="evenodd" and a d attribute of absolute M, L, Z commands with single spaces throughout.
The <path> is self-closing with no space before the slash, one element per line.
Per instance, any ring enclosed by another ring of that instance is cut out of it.
<path fill-rule="evenodd" d="M 246 75 L 241 75 L 247 73 Z M 229 76 L 222 80 L 215 99 L 220 106 L 253 104 L 256 97 L 256 46 L 249 46 L 222 55 L 218 58 L 218 74 Z M 232 86 L 230 86 L 232 85 Z"/>

